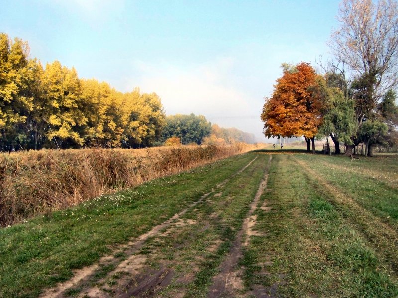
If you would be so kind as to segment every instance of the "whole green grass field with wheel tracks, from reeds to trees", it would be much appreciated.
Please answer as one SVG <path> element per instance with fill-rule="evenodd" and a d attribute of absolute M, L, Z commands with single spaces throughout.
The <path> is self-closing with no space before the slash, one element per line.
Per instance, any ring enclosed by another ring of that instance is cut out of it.
<path fill-rule="evenodd" d="M 398 156 L 256 151 L 0 230 L 0 297 L 398 297 Z"/>

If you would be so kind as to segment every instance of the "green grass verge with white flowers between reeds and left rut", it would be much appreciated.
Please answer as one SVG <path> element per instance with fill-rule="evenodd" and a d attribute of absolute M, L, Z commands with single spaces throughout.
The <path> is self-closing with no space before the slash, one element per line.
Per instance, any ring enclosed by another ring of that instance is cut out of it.
<path fill-rule="evenodd" d="M 242 155 L 101 196 L 0 230 L 0 297 L 35 297 L 198 200 L 246 165 Z"/>

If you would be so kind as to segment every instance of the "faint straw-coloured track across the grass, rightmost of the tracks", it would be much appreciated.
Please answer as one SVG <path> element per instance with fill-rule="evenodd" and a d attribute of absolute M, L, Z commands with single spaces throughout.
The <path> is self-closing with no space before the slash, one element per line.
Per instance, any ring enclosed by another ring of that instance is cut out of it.
<path fill-rule="evenodd" d="M 343 215 L 343 219 L 350 224 L 354 224 L 358 232 L 367 239 L 375 252 L 384 259 L 386 268 L 390 268 L 394 275 L 398 273 L 398 234 L 389 224 L 373 215 L 369 210 L 360 206 L 355 199 L 345 195 L 338 187 L 330 185 L 326 178 L 319 172 L 311 169 L 305 162 L 292 158 L 301 168 L 309 180 L 314 181 L 321 189 L 326 191 L 329 196 L 326 199 L 337 205 Z M 350 216 L 355 213 L 355 218 Z"/>

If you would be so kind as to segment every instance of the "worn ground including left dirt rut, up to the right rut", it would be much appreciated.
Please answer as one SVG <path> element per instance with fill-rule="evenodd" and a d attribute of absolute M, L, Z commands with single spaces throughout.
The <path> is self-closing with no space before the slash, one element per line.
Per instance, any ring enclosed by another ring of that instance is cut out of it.
<path fill-rule="evenodd" d="M 201 296 L 233 239 L 241 241 L 240 226 L 245 212 L 256 204 L 254 190 L 265 164 L 264 156 L 256 156 L 170 220 L 119 247 L 112 257 L 80 270 L 79 280 L 73 278 L 43 297 Z M 247 228 L 247 220 L 243 225 Z"/>

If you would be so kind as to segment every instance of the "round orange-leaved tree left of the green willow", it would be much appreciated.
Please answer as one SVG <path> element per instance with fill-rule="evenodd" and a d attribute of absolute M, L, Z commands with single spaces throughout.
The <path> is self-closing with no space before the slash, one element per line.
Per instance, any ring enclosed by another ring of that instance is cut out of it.
<path fill-rule="evenodd" d="M 292 67 L 286 64 L 283 75 L 271 98 L 265 98 L 261 120 L 264 122 L 264 134 L 273 136 L 304 136 L 307 150 L 315 152 L 314 137 L 322 122 L 321 98 L 317 89 L 317 74 L 305 62 Z"/>

